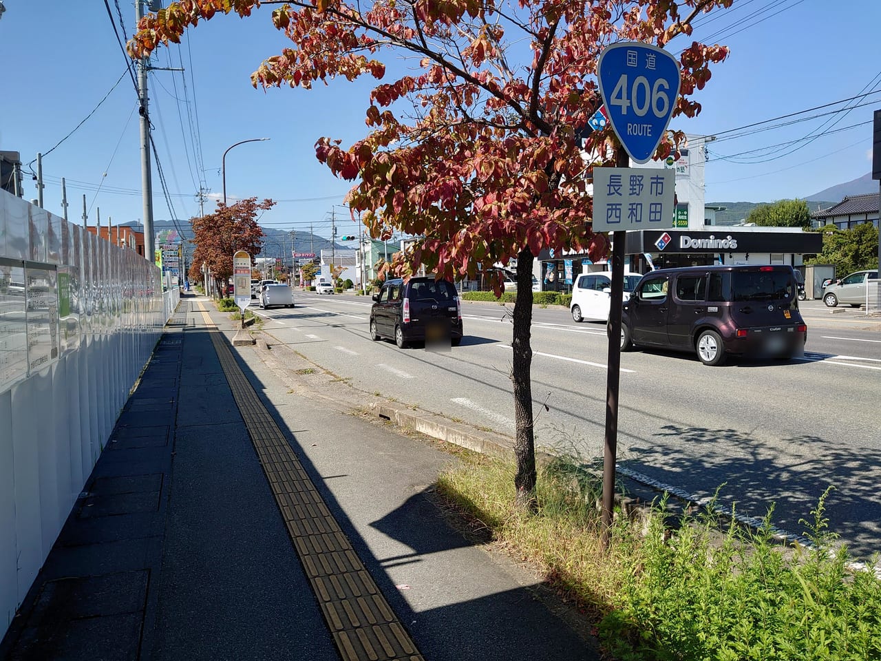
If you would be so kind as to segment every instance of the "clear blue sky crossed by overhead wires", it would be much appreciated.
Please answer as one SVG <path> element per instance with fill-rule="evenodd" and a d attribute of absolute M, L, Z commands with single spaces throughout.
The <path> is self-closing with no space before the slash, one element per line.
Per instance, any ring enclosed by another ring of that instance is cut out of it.
<path fill-rule="evenodd" d="M 70 219 L 81 222 L 84 195 L 89 224 L 99 209 L 102 224 L 107 217 L 114 224 L 142 219 L 136 93 L 114 33 L 114 25 L 121 30 L 121 13 L 125 34 L 131 35 L 134 4 L 109 0 L 111 22 L 101 0 L 3 2 L 0 149 L 21 152 L 25 164 L 37 152 L 44 154 L 44 205 L 51 212 L 62 214 L 64 177 Z M 218 16 L 190 30 L 181 46 L 160 48 L 153 57 L 154 67 L 182 63 L 187 70 L 150 74 L 153 138 L 172 207 L 169 211 L 154 165 L 154 218 L 198 215 L 200 186 L 210 212 L 222 194 L 227 147 L 269 137 L 227 154 L 227 198 L 278 200 L 260 220 L 264 227 L 312 226 L 315 234 L 329 237 L 335 212 L 338 235 L 357 233 L 347 210 L 336 206 L 351 184 L 315 160 L 313 145 L 322 136 L 351 145 L 364 135 L 371 81 L 341 79 L 308 91 L 255 90 L 250 73 L 285 43 L 271 26 L 270 11 L 264 7 L 244 20 Z M 696 23 L 694 38 L 731 48 L 696 97 L 703 104 L 700 116 L 671 127 L 718 136 L 709 145 L 707 203 L 806 197 L 870 171 L 872 111 L 881 108 L 879 26 L 881 0 L 846 0 L 834 10 L 827 0 L 734 0 L 731 10 Z M 670 50 L 688 43 L 673 41 Z M 852 101 L 862 107 L 848 113 L 796 122 L 840 110 L 839 104 L 789 117 L 771 130 L 757 130 L 767 126 L 762 125 L 731 132 L 872 91 L 877 93 Z M 814 133 L 825 135 L 791 142 Z M 36 197 L 29 178 L 26 197 Z"/>

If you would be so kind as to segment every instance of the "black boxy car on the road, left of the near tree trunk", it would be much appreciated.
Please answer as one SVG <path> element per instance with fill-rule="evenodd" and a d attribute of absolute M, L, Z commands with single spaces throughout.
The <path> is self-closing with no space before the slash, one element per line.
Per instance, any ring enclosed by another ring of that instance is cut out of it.
<path fill-rule="evenodd" d="M 374 293 L 370 338 L 394 338 L 399 348 L 411 342 L 462 342 L 462 301 L 453 283 L 432 276 L 388 280 Z"/>

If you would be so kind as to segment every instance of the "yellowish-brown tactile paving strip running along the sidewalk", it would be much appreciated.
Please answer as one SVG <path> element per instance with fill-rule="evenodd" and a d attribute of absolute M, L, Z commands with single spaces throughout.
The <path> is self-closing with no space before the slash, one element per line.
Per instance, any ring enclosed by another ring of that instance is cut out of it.
<path fill-rule="evenodd" d="M 197 303 L 206 326 L 216 328 Z M 211 341 L 344 661 L 424 661 L 218 331 Z"/>

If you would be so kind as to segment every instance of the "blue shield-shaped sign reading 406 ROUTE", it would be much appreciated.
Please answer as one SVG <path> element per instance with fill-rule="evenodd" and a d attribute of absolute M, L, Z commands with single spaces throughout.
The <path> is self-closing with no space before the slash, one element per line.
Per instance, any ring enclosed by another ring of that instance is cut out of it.
<path fill-rule="evenodd" d="M 655 154 L 679 95 L 679 66 L 663 48 L 639 41 L 607 46 L 598 65 L 600 94 L 612 129 L 630 158 Z"/>

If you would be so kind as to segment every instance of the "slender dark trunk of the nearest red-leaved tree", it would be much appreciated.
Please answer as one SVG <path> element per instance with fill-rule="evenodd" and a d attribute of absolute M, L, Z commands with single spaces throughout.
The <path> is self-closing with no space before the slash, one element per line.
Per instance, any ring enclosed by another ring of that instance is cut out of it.
<path fill-rule="evenodd" d="M 529 248 L 517 256 L 517 298 L 514 304 L 514 366 L 511 381 L 514 382 L 514 416 L 516 435 L 514 453 L 517 473 L 514 486 L 517 503 L 530 509 L 535 505 L 536 489 L 536 443 L 532 415 L 532 264 L 534 257 Z"/>

